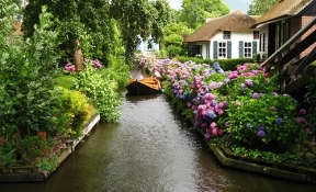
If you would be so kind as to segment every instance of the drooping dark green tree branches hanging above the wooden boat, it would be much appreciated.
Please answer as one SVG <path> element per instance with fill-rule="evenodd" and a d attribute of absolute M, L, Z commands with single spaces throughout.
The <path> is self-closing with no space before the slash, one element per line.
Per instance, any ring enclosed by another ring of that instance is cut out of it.
<path fill-rule="evenodd" d="M 171 11 L 166 0 L 112 0 L 111 15 L 120 23 L 125 60 L 128 63 L 142 39 L 150 37 L 159 43 Z"/>

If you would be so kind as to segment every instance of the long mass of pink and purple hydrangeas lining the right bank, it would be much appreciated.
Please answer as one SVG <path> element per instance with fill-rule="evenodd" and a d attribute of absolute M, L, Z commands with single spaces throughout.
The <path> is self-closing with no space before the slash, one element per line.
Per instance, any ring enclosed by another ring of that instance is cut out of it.
<path fill-rule="evenodd" d="M 291 95 L 278 93 L 276 72 L 257 64 L 224 71 L 218 63 L 139 58 L 139 65 L 161 74 L 167 97 L 184 103 L 183 114 L 207 140 L 227 135 L 244 144 L 285 148 L 306 136 L 306 110 L 297 109 Z"/>

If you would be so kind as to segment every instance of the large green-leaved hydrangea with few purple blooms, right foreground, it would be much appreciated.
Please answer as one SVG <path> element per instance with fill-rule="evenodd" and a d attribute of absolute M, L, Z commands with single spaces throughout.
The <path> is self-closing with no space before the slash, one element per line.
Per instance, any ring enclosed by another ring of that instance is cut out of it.
<path fill-rule="evenodd" d="M 291 97 L 262 94 L 260 99 L 237 99 L 239 104 L 230 102 L 226 110 L 226 121 L 229 122 L 227 133 L 235 139 L 249 145 L 276 142 L 280 147 L 287 147 L 306 136 L 305 123 L 297 121 L 303 117 L 296 111 L 297 102 Z M 260 128 L 264 131 L 264 136 L 259 135 Z"/>

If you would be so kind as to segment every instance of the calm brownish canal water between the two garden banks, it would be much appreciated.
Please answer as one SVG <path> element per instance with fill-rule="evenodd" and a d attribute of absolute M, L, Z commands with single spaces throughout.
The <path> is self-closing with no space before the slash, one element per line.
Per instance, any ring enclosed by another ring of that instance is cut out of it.
<path fill-rule="evenodd" d="M 316 187 L 221 166 L 163 94 L 127 97 L 47 181 L 0 192 L 315 192 Z"/>

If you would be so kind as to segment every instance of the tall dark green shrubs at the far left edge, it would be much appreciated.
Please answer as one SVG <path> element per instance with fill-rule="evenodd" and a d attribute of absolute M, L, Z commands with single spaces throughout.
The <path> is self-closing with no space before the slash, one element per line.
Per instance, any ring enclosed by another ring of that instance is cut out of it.
<path fill-rule="evenodd" d="M 48 157 L 55 144 L 50 136 L 65 124 L 64 118 L 55 116 L 64 110 L 61 92 L 54 89 L 59 72 L 58 33 L 50 31 L 52 14 L 43 7 L 32 37 L 10 42 L 16 10 L 12 4 L 0 1 L 0 7 L 5 8 L 0 9 L 4 26 L 0 29 L 0 138 L 4 140 L 0 146 L 0 163 L 13 166 L 19 160 L 43 165 L 45 159 L 53 158 Z M 54 163 L 50 167 L 46 163 L 46 169 L 56 168 Z"/>

